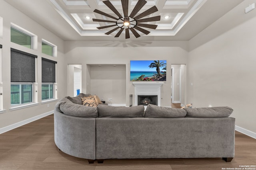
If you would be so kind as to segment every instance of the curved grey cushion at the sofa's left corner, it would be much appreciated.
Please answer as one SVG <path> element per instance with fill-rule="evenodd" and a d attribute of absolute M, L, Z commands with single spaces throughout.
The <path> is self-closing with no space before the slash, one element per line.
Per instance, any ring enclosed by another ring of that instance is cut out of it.
<path fill-rule="evenodd" d="M 83 106 L 80 104 L 74 104 L 68 98 L 59 100 L 55 108 L 57 111 L 66 115 L 77 117 L 98 117 L 97 107 Z"/>

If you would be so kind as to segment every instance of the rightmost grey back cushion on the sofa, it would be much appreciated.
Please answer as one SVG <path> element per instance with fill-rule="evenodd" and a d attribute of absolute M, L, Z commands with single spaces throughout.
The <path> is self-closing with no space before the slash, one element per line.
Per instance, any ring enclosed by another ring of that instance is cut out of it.
<path fill-rule="evenodd" d="M 233 109 L 228 106 L 224 107 L 202 107 L 202 108 L 185 108 L 186 117 L 228 117 Z"/>

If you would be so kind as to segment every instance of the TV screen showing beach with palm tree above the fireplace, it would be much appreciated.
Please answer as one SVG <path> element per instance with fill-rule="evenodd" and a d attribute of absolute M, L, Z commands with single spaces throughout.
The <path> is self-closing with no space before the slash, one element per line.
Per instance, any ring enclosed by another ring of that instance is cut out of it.
<path fill-rule="evenodd" d="M 131 81 L 166 81 L 166 60 L 130 61 Z"/>

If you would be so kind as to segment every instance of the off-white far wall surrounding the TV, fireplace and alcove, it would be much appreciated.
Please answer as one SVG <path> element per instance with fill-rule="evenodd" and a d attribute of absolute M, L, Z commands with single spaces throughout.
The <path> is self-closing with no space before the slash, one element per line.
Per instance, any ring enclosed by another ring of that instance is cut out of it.
<path fill-rule="evenodd" d="M 66 64 L 82 64 L 82 75 L 86 75 L 86 77 L 83 76 L 82 79 L 82 91 L 84 93 L 96 93 L 95 91 L 92 91 L 92 84 L 96 82 L 90 74 L 91 72 L 95 72 L 96 68 L 91 65 L 125 65 L 126 86 L 124 89 L 125 103 L 123 104 L 129 106 L 129 95 L 134 95 L 134 86 L 132 85 L 132 82 L 130 82 L 130 60 L 166 60 L 167 78 L 166 82 L 162 86 L 161 105 L 171 106 L 171 64 L 187 63 L 187 43 L 187 41 L 154 41 L 147 43 L 120 42 L 114 43 L 113 45 L 113 43 L 110 41 L 65 41 L 65 51 L 67 59 Z M 102 72 L 102 74 L 104 74 L 104 72 Z M 115 81 L 114 79 L 112 80 L 113 82 Z M 106 93 L 104 93 L 101 89 L 101 94 L 97 95 L 109 96 L 107 94 L 108 88 L 106 88 L 105 90 Z M 113 100 L 112 103 L 115 104 L 115 101 L 120 100 L 120 91 L 114 90 L 111 98 Z"/>

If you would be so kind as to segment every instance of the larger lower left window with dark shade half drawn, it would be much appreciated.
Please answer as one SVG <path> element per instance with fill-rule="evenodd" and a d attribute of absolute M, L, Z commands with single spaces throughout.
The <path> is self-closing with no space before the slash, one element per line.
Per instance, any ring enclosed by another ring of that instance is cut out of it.
<path fill-rule="evenodd" d="M 36 55 L 11 48 L 11 105 L 33 102 Z"/>

